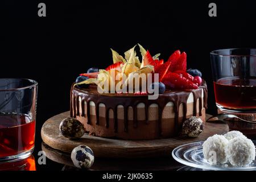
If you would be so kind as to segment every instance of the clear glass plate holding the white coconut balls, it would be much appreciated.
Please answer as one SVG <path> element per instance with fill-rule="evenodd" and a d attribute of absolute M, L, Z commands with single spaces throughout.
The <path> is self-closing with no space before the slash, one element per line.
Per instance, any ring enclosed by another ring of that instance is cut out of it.
<path fill-rule="evenodd" d="M 176 147 L 172 151 L 172 157 L 179 163 L 193 168 L 200 168 L 214 171 L 248 171 L 256 170 L 256 160 L 246 167 L 233 167 L 229 162 L 225 164 L 212 165 L 204 159 L 203 143 L 188 143 Z M 256 141 L 253 141 L 254 145 Z"/>

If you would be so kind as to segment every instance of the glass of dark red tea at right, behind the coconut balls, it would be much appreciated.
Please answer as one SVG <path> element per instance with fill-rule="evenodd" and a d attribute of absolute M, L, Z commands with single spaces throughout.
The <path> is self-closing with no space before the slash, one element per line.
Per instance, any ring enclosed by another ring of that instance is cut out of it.
<path fill-rule="evenodd" d="M 218 109 L 256 113 L 256 49 L 220 49 L 210 60 Z"/>

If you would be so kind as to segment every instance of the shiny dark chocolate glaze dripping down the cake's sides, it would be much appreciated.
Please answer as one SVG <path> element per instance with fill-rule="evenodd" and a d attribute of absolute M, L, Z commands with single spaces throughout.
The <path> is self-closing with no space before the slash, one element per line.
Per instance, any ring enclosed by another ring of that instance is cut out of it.
<path fill-rule="evenodd" d="M 146 115 L 146 123 L 148 124 L 148 107 L 151 104 L 158 105 L 158 117 L 159 117 L 159 135 L 162 134 L 162 113 L 164 107 L 168 102 L 172 102 L 174 104 L 174 112 L 175 112 L 175 132 L 178 133 L 178 119 L 179 119 L 179 107 L 183 104 L 183 119 L 186 119 L 187 115 L 187 100 L 189 94 L 193 93 L 193 115 L 197 113 L 196 103 L 199 100 L 199 115 L 201 116 L 201 110 L 203 109 L 202 105 L 202 89 L 204 93 L 204 107 L 207 108 L 207 84 L 204 81 L 203 84 L 199 87 L 199 89 L 180 91 L 180 92 L 171 92 L 167 91 L 164 94 L 160 94 L 157 100 L 148 100 L 148 96 L 138 96 L 133 94 L 99 94 L 97 92 L 97 88 L 90 89 L 79 89 L 73 88 L 71 86 L 71 117 L 76 118 L 77 115 L 80 115 L 80 101 L 81 98 L 81 117 L 87 117 L 87 123 L 90 124 L 90 114 L 85 114 L 85 102 L 86 102 L 86 113 L 90 113 L 90 101 L 93 101 L 96 109 L 96 125 L 100 124 L 100 115 L 99 115 L 99 105 L 102 103 L 105 105 L 105 126 L 109 127 L 109 110 L 112 109 L 114 113 L 114 131 L 117 133 L 118 130 L 118 119 L 117 119 L 117 107 L 118 105 L 123 106 L 124 111 L 124 131 L 128 132 L 128 109 L 129 107 L 133 108 L 133 126 L 137 128 L 137 105 L 139 103 L 144 103 L 145 105 L 145 115 Z M 113 98 L 114 97 L 114 98 Z"/>

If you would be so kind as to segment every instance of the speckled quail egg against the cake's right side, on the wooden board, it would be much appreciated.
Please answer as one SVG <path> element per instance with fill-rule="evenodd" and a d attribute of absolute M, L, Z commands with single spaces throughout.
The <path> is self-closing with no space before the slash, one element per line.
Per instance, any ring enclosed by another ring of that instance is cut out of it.
<path fill-rule="evenodd" d="M 204 123 L 200 118 L 192 116 L 183 122 L 182 134 L 187 137 L 198 137 L 203 130 Z"/>

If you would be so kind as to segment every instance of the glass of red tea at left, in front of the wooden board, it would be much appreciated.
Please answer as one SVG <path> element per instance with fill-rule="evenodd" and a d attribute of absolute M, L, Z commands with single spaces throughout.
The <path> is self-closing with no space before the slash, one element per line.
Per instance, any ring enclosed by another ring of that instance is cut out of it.
<path fill-rule="evenodd" d="M 0 78 L 0 162 L 32 154 L 37 92 L 34 80 Z"/>

